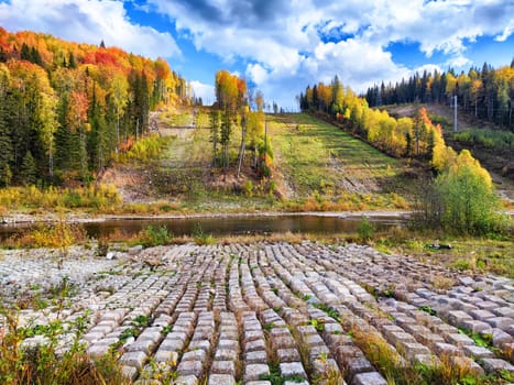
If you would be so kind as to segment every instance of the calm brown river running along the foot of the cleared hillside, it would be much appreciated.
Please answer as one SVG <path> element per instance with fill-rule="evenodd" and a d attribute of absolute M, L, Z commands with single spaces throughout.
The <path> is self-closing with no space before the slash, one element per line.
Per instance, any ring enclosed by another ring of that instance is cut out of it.
<path fill-rule="evenodd" d="M 369 219 L 378 230 L 405 224 L 405 219 L 396 217 L 372 217 Z M 190 235 L 201 228 L 204 233 L 212 235 L 270 234 L 270 233 L 313 233 L 333 234 L 357 231 L 361 217 L 339 218 L 328 216 L 241 216 L 218 218 L 176 218 L 176 219 L 118 219 L 101 222 L 83 223 L 86 233 L 91 238 L 109 235 L 113 232 L 135 234 L 152 226 L 165 226 L 173 234 Z M 0 240 L 32 224 L 0 226 Z"/>

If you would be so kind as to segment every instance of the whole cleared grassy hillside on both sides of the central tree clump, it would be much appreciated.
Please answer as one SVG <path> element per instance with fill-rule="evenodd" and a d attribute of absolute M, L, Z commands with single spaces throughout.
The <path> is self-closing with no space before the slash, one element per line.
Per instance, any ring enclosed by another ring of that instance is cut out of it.
<path fill-rule="evenodd" d="M 401 196 L 407 194 L 402 183 L 407 168 L 402 162 L 306 114 L 266 117 L 274 152 L 271 182 L 255 175 L 251 155 L 239 179 L 233 170 L 223 178 L 211 169 L 208 110 L 172 108 L 155 114 L 165 142 L 160 158 L 114 164 L 101 182 L 114 184 L 128 204 L 169 201 L 187 209 L 405 207 Z M 232 158 L 239 142 L 234 130 Z"/>

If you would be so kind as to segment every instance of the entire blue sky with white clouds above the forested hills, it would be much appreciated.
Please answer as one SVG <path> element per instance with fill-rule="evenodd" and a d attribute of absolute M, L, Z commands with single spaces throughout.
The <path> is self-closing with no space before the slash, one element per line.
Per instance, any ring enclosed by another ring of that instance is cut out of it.
<path fill-rule="evenodd" d="M 163 57 L 205 103 L 228 69 L 286 110 L 335 75 L 362 92 L 514 58 L 514 0 L 0 0 L 0 25 Z"/>

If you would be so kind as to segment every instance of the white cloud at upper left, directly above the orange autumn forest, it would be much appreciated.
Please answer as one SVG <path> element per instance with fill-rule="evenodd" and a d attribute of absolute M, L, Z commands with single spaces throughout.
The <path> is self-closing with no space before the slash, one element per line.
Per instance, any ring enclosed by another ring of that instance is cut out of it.
<path fill-rule="evenodd" d="M 0 3 L 0 24 L 66 40 L 119 46 L 156 58 L 181 55 L 169 33 L 132 23 L 119 0 L 11 0 Z"/>

